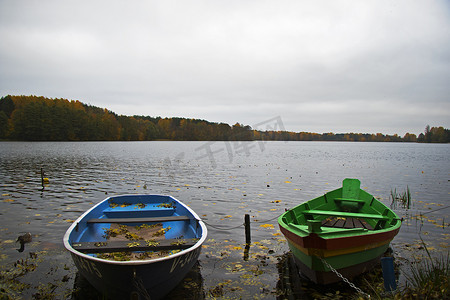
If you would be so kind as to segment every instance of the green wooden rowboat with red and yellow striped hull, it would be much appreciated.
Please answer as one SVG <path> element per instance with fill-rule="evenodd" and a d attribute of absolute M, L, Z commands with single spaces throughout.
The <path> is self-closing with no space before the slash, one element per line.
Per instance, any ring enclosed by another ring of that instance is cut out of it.
<path fill-rule="evenodd" d="M 302 203 L 278 218 L 303 275 L 329 284 L 370 270 L 400 230 L 401 220 L 360 188 L 358 179 Z"/>

